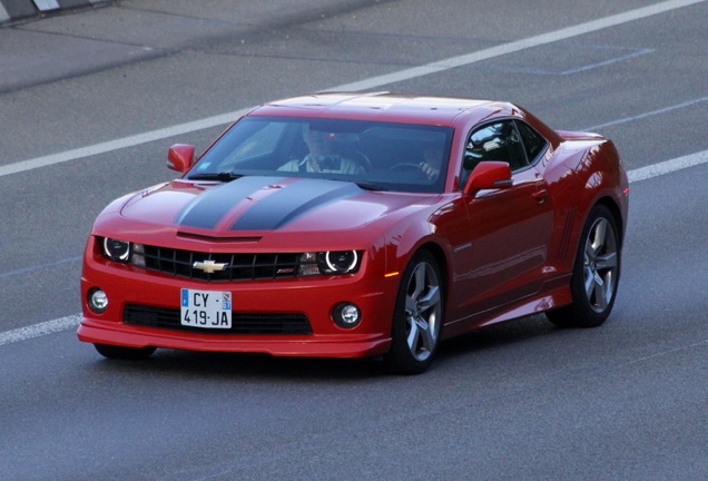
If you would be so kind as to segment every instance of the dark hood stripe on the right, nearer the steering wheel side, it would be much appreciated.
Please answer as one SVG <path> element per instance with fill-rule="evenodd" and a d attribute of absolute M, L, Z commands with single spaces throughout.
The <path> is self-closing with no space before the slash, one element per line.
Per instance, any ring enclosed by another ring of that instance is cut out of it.
<path fill-rule="evenodd" d="M 271 230 L 335 200 L 353 197 L 362 190 L 356 184 L 302 179 L 283 187 L 244 213 L 232 230 Z"/>

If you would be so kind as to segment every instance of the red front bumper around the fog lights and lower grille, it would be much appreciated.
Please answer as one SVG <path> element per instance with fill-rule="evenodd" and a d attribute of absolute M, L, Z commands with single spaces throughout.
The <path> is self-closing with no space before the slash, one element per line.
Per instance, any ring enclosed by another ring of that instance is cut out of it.
<path fill-rule="evenodd" d="M 89 242 L 90 244 L 90 242 Z M 364 269 L 363 269 L 364 271 Z M 368 269 L 371 273 L 372 269 Z M 91 288 L 108 297 L 105 312 L 87 303 Z M 312 334 L 233 334 L 217 330 L 184 331 L 124 322 L 126 305 L 180 308 L 180 289 L 228 291 L 233 313 L 304 315 Z M 397 277 L 360 272 L 351 276 L 312 276 L 291 279 L 209 283 L 174 277 L 118 264 L 88 246 L 83 259 L 81 295 L 83 318 L 80 341 L 127 347 L 168 347 L 189 351 L 267 353 L 277 356 L 365 357 L 386 353 Z M 353 328 L 337 326 L 332 310 L 342 302 L 356 304 L 362 322 Z"/>

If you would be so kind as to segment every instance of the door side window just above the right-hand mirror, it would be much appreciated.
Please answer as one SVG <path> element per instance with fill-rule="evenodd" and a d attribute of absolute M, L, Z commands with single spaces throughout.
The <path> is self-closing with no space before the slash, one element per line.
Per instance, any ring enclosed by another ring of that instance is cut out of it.
<path fill-rule="evenodd" d="M 509 163 L 512 171 L 529 165 L 519 130 L 512 120 L 488 124 L 470 134 L 464 150 L 462 178 L 466 179 L 472 169 L 485 160 Z"/>

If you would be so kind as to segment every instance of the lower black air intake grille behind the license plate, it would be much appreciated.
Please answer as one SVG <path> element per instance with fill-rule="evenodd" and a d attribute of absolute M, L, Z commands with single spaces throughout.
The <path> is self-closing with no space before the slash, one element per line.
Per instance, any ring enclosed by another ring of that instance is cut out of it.
<path fill-rule="evenodd" d="M 206 330 L 180 324 L 180 311 L 140 304 L 127 304 L 122 311 L 125 324 L 160 327 L 209 334 L 312 334 L 304 314 L 232 313 L 230 330 Z"/>

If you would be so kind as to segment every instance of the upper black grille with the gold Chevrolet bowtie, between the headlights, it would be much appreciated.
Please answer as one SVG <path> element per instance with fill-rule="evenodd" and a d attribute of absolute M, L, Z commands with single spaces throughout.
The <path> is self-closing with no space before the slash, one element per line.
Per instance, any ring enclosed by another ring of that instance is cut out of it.
<path fill-rule="evenodd" d="M 299 262 L 301 254 L 297 253 L 219 254 L 149 245 L 144 248 L 146 268 L 209 282 L 295 277 L 302 264 Z M 201 265 L 203 268 L 195 267 L 195 263 L 201 263 L 197 265 Z"/>

